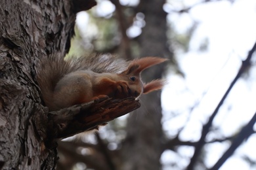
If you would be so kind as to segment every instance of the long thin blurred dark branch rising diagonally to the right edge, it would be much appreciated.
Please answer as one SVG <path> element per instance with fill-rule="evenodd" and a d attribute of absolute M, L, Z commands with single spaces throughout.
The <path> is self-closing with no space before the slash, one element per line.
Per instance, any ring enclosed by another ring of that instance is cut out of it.
<path fill-rule="evenodd" d="M 217 105 L 216 109 L 214 110 L 213 114 L 211 114 L 207 124 L 205 124 L 203 126 L 202 129 L 202 136 L 200 138 L 200 140 L 198 141 L 198 144 L 196 144 L 196 148 L 195 148 L 195 152 L 194 155 L 192 156 L 191 160 L 190 160 L 190 164 L 188 165 L 188 170 L 192 170 L 194 169 L 194 165 L 196 163 L 196 160 L 198 159 L 198 156 L 201 153 L 201 150 L 205 144 L 205 137 L 207 135 L 207 133 L 209 132 L 209 129 L 213 123 L 213 119 L 215 118 L 215 116 L 217 115 L 221 105 L 223 105 L 224 100 L 226 99 L 226 97 L 228 96 L 228 93 L 230 93 L 231 89 L 233 88 L 234 84 L 236 84 L 238 78 L 240 78 L 240 76 L 249 68 L 249 66 L 251 65 L 251 57 L 253 56 L 253 52 L 255 52 L 256 50 L 256 42 L 253 46 L 253 48 L 251 48 L 251 50 L 249 51 L 249 54 L 247 56 L 247 58 L 242 61 L 242 65 L 240 67 L 240 70 L 238 71 L 236 77 L 234 78 L 234 80 L 231 82 L 230 86 L 228 87 L 228 90 L 226 90 L 226 93 L 224 93 L 223 98 L 221 99 L 221 101 L 219 102 L 219 104 Z"/>

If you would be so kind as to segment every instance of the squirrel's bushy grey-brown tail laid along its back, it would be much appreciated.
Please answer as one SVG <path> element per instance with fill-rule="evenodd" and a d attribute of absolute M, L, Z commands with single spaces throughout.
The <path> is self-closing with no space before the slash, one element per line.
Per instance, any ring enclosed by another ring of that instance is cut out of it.
<path fill-rule="evenodd" d="M 37 82 L 45 105 L 53 108 L 53 93 L 58 81 L 68 73 L 79 70 L 91 70 L 95 73 L 121 73 L 129 62 L 110 54 L 91 54 L 64 60 L 60 54 L 52 54 L 40 59 L 36 65 Z"/>

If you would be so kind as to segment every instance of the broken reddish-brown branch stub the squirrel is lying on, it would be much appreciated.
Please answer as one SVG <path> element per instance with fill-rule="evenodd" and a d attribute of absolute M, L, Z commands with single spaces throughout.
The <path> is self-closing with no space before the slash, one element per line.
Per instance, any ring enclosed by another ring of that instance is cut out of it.
<path fill-rule="evenodd" d="M 98 129 L 98 126 L 139 107 L 139 101 L 130 97 L 127 99 L 104 99 L 50 112 L 45 144 L 52 148 L 54 147 L 53 142 L 57 139 Z"/>

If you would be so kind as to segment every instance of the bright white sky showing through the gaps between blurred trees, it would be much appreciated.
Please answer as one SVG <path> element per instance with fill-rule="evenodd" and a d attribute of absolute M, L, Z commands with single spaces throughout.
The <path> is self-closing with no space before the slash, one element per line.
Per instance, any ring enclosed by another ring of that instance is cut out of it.
<path fill-rule="evenodd" d="M 246 58 L 248 51 L 256 41 L 255 0 L 236 0 L 234 3 L 223 0 L 196 5 L 188 13 L 175 12 L 175 10 L 193 6 L 198 2 L 200 1 L 167 0 L 163 6 L 165 12 L 168 13 L 167 21 L 172 24 L 177 33 L 186 33 L 194 22 L 198 23 L 188 52 L 177 51 L 175 54 L 184 77 L 173 73 L 167 75 L 169 84 L 165 86 L 161 96 L 163 129 L 169 137 L 174 137 L 179 129 L 186 125 L 179 135 L 182 141 L 200 139 L 202 124 L 207 122 L 230 82 L 238 73 L 242 60 Z M 139 0 L 120 0 L 120 3 L 137 5 Z M 100 10 L 101 14 L 111 16 L 115 7 L 110 1 L 102 0 L 102 3 L 96 6 L 96 10 Z M 137 20 L 143 20 L 143 16 L 140 14 Z M 81 12 L 77 16 L 77 25 L 86 27 L 88 23 L 88 14 Z M 138 36 L 143 26 L 143 24 L 133 25 L 127 30 L 127 35 Z M 201 42 L 205 40 L 208 46 L 207 50 L 202 52 L 199 49 Z M 236 134 L 255 114 L 255 69 L 252 67 L 249 75 L 238 80 L 213 121 L 217 130 L 215 133 L 209 133 L 207 140 Z M 255 143 L 256 135 L 251 135 L 246 143 L 236 150 L 234 156 L 224 163 L 221 170 L 253 169 L 241 158 L 248 156 L 256 162 Z M 230 143 L 207 144 L 205 165 L 207 167 L 214 165 L 228 146 Z M 177 169 L 184 169 L 193 152 L 194 148 L 190 146 L 179 147 L 177 153 L 171 150 L 165 151 L 161 157 L 165 165 L 163 169 L 168 169 L 169 163 L 177 160 L 179 160 Z"/>

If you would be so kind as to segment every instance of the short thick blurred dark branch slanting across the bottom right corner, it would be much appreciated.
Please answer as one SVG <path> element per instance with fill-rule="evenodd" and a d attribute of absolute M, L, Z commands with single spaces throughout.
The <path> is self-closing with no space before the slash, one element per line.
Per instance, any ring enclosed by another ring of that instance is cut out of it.
<path fill-rule="evenodd" d="M 219 169 L 219 167 L 221 167 L 221 165 L 223 165 L 224 161 L 226 161 L 234 153 L 236 148 L 238 148 L 238 146 L 240 146 L 240 144 L 242 144 L 242 142 L 245 139 L 247 139 L 251 134 L 255 133 L 255 131 L 253 130 L 253 126 L 254 126 L 255 122 L 256 122 L 256 112 L 253 115 L 253 117 L 251 118 L 251 120 L 249 121 L 249 123 L 237 135 L 236 139 L 234 139 L 234 141 L 232 142 L 232 144 L 228 148 L 228 150 L 226 150 L 226 152 L 217 161 L 217 163 L 215 163 L 215 165 L 213 165 L 213 167 L 211 168 L 212 170 Z"/>

